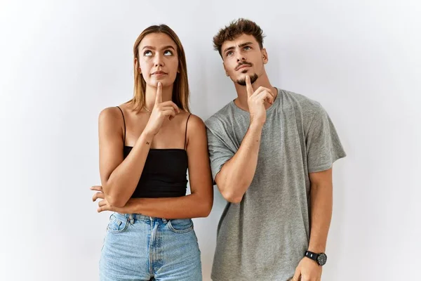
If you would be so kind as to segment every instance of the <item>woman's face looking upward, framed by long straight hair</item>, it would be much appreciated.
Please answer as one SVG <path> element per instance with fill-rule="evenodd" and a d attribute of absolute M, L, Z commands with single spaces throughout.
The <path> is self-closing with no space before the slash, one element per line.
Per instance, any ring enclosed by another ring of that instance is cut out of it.
<path fill-rule="evenodd" d="M 147 34 L 139 44 L 139 65 L 149 86 L 172 86 L 178 72 L 177 45 L 165 33 Z"/>

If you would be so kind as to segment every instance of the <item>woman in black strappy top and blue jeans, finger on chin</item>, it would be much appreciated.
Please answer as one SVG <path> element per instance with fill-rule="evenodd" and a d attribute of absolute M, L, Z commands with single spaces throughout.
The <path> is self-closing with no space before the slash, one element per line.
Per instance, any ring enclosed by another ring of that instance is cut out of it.
<path fill-rule="evenodd" d="M 170 27 L 154 25 L 133 53 L 133 99 L 99 117 L 102 187 L 91 189 L 98 211 L 114 211 L 100 280 L 202 280 L 191 218 L 208 216 L 213 190 L 206 128 L 189 113 L 185 52 Z"/>

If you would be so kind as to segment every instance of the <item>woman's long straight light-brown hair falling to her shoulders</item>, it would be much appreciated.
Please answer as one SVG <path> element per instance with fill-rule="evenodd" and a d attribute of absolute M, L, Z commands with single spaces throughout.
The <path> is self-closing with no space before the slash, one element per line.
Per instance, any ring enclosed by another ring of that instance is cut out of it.
<path fill-rule="evenodd" d="M 139 71 L 139 45 L 140 41 L 142 41 L 142 39 L 145 38 L 147 34 L 151 33 L 167 34 L 177 45 L 179 72 L 177 73 L 177 77 L 175 77 L 172 100 L 173 103 L 175 103 L 180 108 L 180 110 L 190 112 L 189 81 L 187 79 L 187 63 L 185 51 L 184 48 L 182 48 L 181 41 L 177 34 L 175 34 L 175 32 L 171 30 L 168 25 L 152 25 L 147 27 L 147 29 L 143 30 L 143 32 L 139 35 L 138 39 L 136 39 L 135 46 L 133 46 L 133 55 L 134 58 L 137 59 L 134 65 L 135 87 L 133 91 L 133 98 L 127 103 L 132 103 L 134 105 L 134 110 L 138 112 L 140 112 L 140 110 L 142 110 L 142 108 L 145 106 L 146 81 Z"/>

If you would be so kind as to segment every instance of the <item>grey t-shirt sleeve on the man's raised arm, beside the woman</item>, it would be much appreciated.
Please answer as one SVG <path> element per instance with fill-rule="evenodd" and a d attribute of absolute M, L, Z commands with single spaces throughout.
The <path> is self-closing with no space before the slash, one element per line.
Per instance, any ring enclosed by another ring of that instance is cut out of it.
<path fill-rule="evenodd" d="M 235 155 L 235 152 L 229 148 L 227 140 L 222 138 L 221 133 L 209 128 L 206 129 L 206 132 L 208 134 L 210 169 L 212 169 L 213 184 L 215 184 L 216 175 L 221 171 L 222 166 Z"/>

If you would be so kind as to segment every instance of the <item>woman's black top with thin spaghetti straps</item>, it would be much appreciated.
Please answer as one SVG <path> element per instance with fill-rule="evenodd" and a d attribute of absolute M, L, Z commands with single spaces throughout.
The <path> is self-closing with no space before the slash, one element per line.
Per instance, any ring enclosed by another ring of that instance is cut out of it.
<path fill-rule="evenodd" d="M 126 143 L 126 120 L 123 110 L 124 136 Z M 180 197 L 186 195 L 187 190 L 187 117 L 185 131 L 185 146 L 181 148 L 150 148 L 143 167 L 138 186 L 132 198 Z M 123 155 L 126 159 L 133 147 L 124 145 Z"/>

